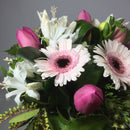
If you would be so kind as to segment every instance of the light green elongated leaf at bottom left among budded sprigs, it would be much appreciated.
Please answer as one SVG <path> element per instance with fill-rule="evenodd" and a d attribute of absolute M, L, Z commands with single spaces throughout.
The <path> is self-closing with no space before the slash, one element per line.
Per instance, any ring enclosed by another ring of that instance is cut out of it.
<path fill-rule="evenodd" d="M 26 121 L 30 118 L 32 118 L 33 116 L 35 116 L 37 113 L 39 112 L 39 109 L 36 110 L 32 110 L 26 113 L 23 113 L 21 115 L 18 115 L 14 118 L 12 118 L 9 123 L 17 123 L 17 122 L 22 122 L 22 121 Z"/>

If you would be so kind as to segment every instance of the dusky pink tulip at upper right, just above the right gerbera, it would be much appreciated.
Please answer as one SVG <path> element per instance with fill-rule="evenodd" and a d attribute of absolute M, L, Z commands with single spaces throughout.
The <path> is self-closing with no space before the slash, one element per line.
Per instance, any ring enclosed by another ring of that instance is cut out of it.
<path fill-rule="evenodd" d="M 124 25 L 126 27 L 126 25 Z M 124 43 L 125 39 L 126 39 L 126 35 L 127 35 L 127 31 L 125 31 L 124 33 L 121 31 L 120 28 L 117 29 L 117 31 L 115 32 L 114 36 L 112 37 L 112 40 Z"/>

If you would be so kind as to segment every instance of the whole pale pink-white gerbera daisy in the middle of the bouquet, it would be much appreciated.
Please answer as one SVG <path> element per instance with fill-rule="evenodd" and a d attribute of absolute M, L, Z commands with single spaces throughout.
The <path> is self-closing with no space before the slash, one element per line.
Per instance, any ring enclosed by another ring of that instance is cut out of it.
<path fill-rule="evenodd" d="M 57 48 L 41 49 L 48 58 L 35 60 L 35 66 L 42 72 L 42 79 L 56 76 L 55 86 L 63 86 L 67 81 L 77 80 L 84 71 L 83 66 L 90 60 L 90 54 L 83 45 L 72 48 L 71 39 L 62 39 L 58 45 Z"/>

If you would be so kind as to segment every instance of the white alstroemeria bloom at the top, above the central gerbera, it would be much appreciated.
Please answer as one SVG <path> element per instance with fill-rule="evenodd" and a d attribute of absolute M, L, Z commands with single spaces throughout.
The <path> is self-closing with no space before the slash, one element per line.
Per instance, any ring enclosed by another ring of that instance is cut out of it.
<path fill-rule="evenodd" d="M 49 40 L 49 45 L 55 46 L 59 40 L 65 38 L 70 38 L 73 42 L 78 38 L 79 29 L 74 32 L 76 22 L 73 21 L 69 26 L 67 26 L 67 16 L 60 17 L 59 19 L 55 17 L 49 19 L 46 10 L 40 13 L 38 12 L 38 16 L 41 21 L 40 28 L 44 38 Z"/>

